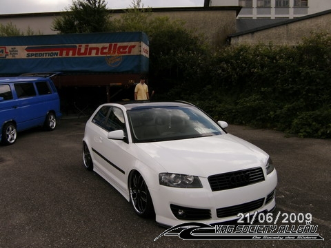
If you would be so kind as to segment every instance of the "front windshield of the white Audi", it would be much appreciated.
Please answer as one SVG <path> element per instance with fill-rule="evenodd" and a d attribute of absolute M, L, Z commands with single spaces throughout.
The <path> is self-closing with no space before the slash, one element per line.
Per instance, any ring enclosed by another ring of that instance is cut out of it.
<path fill-rule="evenodd" d="M 153 107 L 129 110 L 135 143 L 219 135 L 221 127 L 196 107 Z"/>

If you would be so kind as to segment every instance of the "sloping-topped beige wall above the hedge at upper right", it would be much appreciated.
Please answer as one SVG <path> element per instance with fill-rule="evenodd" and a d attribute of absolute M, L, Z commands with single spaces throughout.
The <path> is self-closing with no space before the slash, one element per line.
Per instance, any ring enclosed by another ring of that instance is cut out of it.
<path fill-rule="evenodd" d="M 307 19 L 293 20 L 274 27 L 252 30 L 247 33 L 230 35 L 231 45 L 273 43 L 277 45 L 297 45 L 303 37 L 312 32 L 331 33 L 331 11 Z"/>

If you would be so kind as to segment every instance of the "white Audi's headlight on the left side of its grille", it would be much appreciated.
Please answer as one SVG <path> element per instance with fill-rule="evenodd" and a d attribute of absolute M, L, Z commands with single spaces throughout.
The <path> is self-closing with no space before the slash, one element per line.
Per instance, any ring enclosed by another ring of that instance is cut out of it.
<path fill-rule="evenodd" d="M 202 188 L 199 177 L 183 174 L 160 173 L 159 183 L 168 187 Z"/>

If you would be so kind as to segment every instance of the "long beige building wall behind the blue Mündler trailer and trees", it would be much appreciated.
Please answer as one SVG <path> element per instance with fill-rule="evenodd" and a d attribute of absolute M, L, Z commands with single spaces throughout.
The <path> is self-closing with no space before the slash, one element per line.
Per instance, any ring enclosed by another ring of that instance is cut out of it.
<path fill-rule="evenodd" d="M 237 31 L 236 17 L 240 7 L 216 8 L 152 8 L 152 16 L 168 16 L 170 19 L 182 19 L 185 26 L 205 35 L 206 41 L 218 47 L 223 45 L 226 37 Z M 123 10 L 112 10 L 112 18 L 119 18 Z M 36 14 L 2 14 L 0 23 L 12 23 L 19 30 L 26 32 L 31 28 L 35 33 L 57 34 L 52 30 L 52 22 L 59 17 L 60 12 Z"/>

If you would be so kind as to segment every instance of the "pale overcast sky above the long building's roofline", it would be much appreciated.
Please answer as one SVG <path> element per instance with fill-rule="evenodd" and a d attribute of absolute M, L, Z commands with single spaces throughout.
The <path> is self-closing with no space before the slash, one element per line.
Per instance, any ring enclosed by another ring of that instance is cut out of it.
<path fill-rule="evenodd" d="M 21 14 L 62 11 L 72 5 L 72 0 L 0 0 L 0 14 Z M 132 0 L 106 0 L 112 10 L 130 8 Z M 202 7 L 204 0 L 142 0 L 145 8 Z"/>

